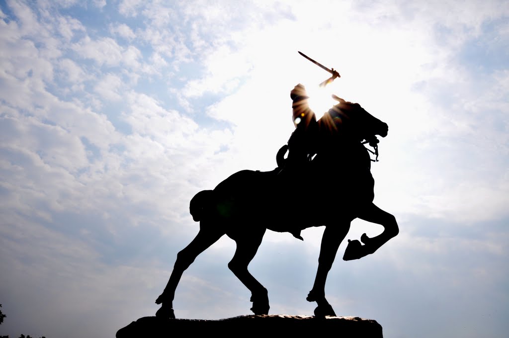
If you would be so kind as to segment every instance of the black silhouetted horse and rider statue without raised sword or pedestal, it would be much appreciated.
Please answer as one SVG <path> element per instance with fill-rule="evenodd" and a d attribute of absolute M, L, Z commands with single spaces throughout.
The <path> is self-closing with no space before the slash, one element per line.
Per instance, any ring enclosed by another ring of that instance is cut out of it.
<path fill-rule="evenodd" d="M 377 150 L 375 135 L 385 137 L 387 124 L 359 104 L 336 96 L 338 103 L 317 121 L 300 84 L 291 91 L 291 98 L 296 130 L 288 146 L 278 151 L 278 166 L 270 172 L 240 171 L 214 190 L 200 191 L 192 198 L 189 209 L 193 219 L 200 221 L 200 231 L 178 253 L 168 284 L 156 300 L 161 304 L 157 317 L 175 318 L 173 299 L 182 273 L 223 235 L 237 244 L 228 267 L 251 291 L 251 311 L 268 314 L 267 289 L 247 270 L 265 231 L 289 232 L 302 239 L 301 230 L 320 226 L 325 231 L 318 270 L 306 299 L 317 302 L 315 316 L 335 316 L 325 298 L 325 282 L 351 221 L 360 218 L 378 223 L 384 231 L 372 238 L 363 234 L 360 242 L 349 240 L 345 261 L 374 253 L 398 234 L 394 216 L 373 204 L 373 160 L 363 145 L 369 143 Z"/>

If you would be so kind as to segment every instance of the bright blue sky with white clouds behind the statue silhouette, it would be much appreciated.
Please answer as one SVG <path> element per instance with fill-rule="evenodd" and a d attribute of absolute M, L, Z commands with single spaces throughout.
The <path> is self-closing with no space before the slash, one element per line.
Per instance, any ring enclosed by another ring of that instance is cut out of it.
<path fill-rule="evenodd" d="M 298 50 L 342 77 L 319 88 Z M 340 246 L 336 314 L 386 337 L 506 337 L 509 3 L 475 0 L 1 0 L 0 335 L 153 316 L 199 230 L 190 199 L 276 166 L 297 83 L 318 117 L 334 93 L 389 125 L 374 203 L 400 234 L 357 261 Z M 313 315 L 323 229 L 266 233 L 249 270 L 270 314 Z M 347 238 L 381 231 L 354 220 Z M 189 267 L 178 318 L 250 314 L 234 251 L 224 236 Z"/>

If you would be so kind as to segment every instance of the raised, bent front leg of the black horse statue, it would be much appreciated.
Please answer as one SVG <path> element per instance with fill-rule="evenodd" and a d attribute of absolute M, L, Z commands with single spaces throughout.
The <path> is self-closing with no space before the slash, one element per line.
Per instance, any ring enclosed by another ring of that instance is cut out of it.
<path fill-rule="evenodd" d="M 396 218 L 373 203 L 364 208 L 357 217 L 368 222 L 380 224 L 384 227 L 384 231 L 380 235 L 372 238 L 367 237 L 366 234 L 362 234 L 360 241 L 364 245 L 361 245 L 357 240 L 348 240 L 348 247 L 345 250 L 345 256 L 343 256 L 343 260 L 345 261 L 359 259 L 374 253 L 389 239 L 397 236 L 400 231 Z"/>

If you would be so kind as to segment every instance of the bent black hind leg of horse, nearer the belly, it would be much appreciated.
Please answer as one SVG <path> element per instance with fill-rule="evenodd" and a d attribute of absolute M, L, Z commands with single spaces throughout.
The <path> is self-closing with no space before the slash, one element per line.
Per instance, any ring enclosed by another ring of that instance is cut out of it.
<path fill-rule="evenodd" d="M 256 234 L 244 233 L 241 236 L 235 236 L 237 249 L 232 260 L 228 263 L 230 270 L 251 291 L 250 301 L 253 303 L 251 311 L 255 315 L 267 315 L 270 308 L 267 289 L 247 270 L 247 266 L 254 255 L 256 255 L 258 247 L 262 243 L 264 234 L 265 229 L 261 229 Z"/>

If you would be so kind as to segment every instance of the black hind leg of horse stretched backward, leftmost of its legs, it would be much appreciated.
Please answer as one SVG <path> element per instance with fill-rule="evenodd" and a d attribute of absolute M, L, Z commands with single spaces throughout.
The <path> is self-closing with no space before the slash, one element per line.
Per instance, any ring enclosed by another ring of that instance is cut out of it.
<path fill-rule="evenodd" d="M 175 298 L 175 290 L 182 274 L 200 253 L 217 242 L 225 234 L 215 227 L 204 226 L 204 222 L 208 223 L 208 221 L 202 220 L 200 222 L 200 232 L 191 243 L 177 254 L 177 260 L 169 277 L 168 284 L 164 288 L 163 293 L 156 299 L 156 304 L 161 304 L 161 308 L 156 312 L 156 317 L 175 318 L 173 299 Z"/>

